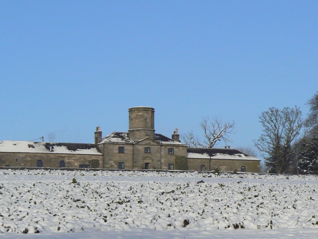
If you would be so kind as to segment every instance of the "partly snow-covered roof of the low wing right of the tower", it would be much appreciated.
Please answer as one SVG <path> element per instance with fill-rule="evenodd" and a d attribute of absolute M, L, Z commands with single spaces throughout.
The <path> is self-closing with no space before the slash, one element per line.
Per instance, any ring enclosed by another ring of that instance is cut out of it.
<path fill-rule="evenodd" d="M 187 157 L 190 159 L 225 159 L 225 160 L 256 160 L 254 158 L 236 149 L 217 149 L 217 148 L 188 148 Z"/>

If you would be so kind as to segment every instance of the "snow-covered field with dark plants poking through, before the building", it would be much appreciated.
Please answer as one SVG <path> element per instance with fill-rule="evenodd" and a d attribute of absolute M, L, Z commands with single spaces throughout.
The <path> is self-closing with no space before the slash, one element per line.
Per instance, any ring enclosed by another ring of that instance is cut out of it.
<path fill-rule="evenodd" d="M 318 177 L 0 170 L 0 231 L 3 238 L 317 238 Z"/>

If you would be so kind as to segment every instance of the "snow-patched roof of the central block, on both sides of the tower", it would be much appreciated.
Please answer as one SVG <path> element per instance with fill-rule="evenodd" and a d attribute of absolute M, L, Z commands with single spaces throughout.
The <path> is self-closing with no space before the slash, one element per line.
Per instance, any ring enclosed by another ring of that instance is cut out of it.
<path fill-rule="evenodd" d="M 175 145 L 182 145 L 182 143 L 179 143 L 177 141 L 174 141 L 164 135 L 161 134 L 155 134 L 155 141 L 160 144 L 175 144 Z M 112 134 L 107 135 L 104 137 L 102 142 L 100 144 L 104 143 L 134 143 L 131 139 L 128 137 L 128 132 L 114 132 Z"/>

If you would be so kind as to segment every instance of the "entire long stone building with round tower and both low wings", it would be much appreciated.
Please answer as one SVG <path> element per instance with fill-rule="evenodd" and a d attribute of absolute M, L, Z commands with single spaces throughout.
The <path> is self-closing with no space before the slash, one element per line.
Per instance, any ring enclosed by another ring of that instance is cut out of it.
<path fill-rule="evenodd" d="M 178 130 L 171 138 L 155 133 L 154 108 L 129 108 L 128 132 L 102 136 L 95 144 L 0 142 L 2 167 L 106 168 L 174 170 L 175 156 L 187 159 L 188 170 L 259 172 L 260 160 L 234 149 L 188 148 Z"/>

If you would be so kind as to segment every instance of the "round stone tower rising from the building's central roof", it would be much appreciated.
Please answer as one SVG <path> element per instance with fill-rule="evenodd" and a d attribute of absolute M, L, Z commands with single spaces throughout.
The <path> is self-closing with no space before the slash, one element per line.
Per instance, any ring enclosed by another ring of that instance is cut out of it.
<path fill-rule="evenodd" d="M 128 136 L 133 141 L 149 137 L 155 140 L 155 109 L 139 106 L 128 109 L 129 130 Z"/>

